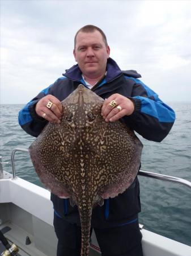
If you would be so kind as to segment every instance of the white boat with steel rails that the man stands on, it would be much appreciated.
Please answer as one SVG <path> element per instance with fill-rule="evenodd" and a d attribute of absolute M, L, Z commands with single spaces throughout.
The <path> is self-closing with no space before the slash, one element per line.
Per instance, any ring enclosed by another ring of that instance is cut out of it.
<path fill-rule="evenodd" d="M 12 170 L 3 171 L 0 156 L 0 254 L 3 256 L 56 256 L 57 238 L 53 227 L 53 205 L 50 192 L 16 176 L 15 153 L 28 154 L 26 148 L 15 148 L 11 154 Z M 181 183 L 191 188 L 188 180 L 139 171 L 139 175 Z M 191 246 L 150 232 L 139 225 L 143 235 L 144 256 L 191 256 Z M 2 241 L 5 238 L 4 242 Z M 7 246 L 5 247 L 5 243 Z M 90 240 L 90 256 L 101 252 L 95 233 Z"/>

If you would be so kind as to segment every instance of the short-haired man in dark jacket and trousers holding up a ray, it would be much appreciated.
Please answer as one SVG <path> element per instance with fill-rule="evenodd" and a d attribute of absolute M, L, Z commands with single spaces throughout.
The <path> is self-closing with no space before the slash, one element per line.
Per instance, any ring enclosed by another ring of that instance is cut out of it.
<path fill-rule="evenodd" d="M 105 122 L 121 118 L 127 126 L 144 138 L 160 142 L 171 130 L 175 113 L 159 100 L 158 95 L 138 80 L 135 71 L 121 71 L 109 57 L 107 38 L 100 28 L 84 26 L 75 35 L 74 65 L 54 84 L 41 91 L 19 112 L 19 123 L 37 137 L 46 123 L 60 123 L 61 101 L 79 84 L 104 98 L 101 115 Z M 114 105 L 111 105 L 111 102 Z M 51 195 L 54 205 L 54 228 L 58 237 L 57 256 L 80 255 L 80 220 L 77 207 L 69 200 Z M 103 256 L 141 256 L 141 232 L 138 213 L 141 211 L 139 182 L 114 199 L 105 200 L 103 207 L 92 212 L 92 228 Z"/>

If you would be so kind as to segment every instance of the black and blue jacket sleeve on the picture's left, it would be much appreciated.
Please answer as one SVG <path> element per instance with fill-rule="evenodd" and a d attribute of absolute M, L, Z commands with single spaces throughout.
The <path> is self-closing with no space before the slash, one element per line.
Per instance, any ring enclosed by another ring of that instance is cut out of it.
<path fill-rule="evenodd" d="M 45 127 L 46 123 L 48 123 L 48 121 L 36 114 L 35 106 L 41 98 L 50 94 L 50 86 L 42 90 L 35 98 L 28 102 L 28 104 L 24 106 L 23 109 L 19 111 L 19 125 L 24 131 L 34 137 L 37 137 Z"/>

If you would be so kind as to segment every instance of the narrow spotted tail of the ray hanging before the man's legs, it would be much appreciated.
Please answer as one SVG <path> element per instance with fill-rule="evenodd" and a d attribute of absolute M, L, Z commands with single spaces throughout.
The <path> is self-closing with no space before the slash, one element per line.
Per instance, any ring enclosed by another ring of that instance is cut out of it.
<path fill-rule="evenodd" d="M 80 213 L 81 230 L 82 230 L 82 249 L 81 256 L 88 256 L 90 250 L 90 228 L 92 210 L 83 210 Z"/>

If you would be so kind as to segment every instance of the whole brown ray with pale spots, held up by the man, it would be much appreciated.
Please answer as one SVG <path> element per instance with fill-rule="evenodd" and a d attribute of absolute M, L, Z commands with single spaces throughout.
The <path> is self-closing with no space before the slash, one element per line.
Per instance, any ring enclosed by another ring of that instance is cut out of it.
<path fill-rule="evenodd" d="M 103 101 L 79 85 L 62 101 L 61 124 L 48 123 L 29 147 L 45 186 L 78 207 L 81 256 L 89 251 L 92 208 L 124 192 L 141 161 L 142 143 L 124 123 L 104 121 Z"/>

